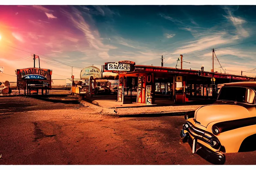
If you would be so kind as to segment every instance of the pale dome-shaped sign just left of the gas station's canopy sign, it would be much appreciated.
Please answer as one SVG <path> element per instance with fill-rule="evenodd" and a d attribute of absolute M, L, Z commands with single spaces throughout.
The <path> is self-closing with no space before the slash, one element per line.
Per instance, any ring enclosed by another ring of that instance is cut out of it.
<path fill-rule="evenodd" d="M 94 67 L 94 66 L 89 66 L 85 67 L 81 73 L 80 73 L 80 78 L 81 79 L 89 79 L 91 76 L 93 78 L 101 78 L 101 71 L 99 68 Z"/>

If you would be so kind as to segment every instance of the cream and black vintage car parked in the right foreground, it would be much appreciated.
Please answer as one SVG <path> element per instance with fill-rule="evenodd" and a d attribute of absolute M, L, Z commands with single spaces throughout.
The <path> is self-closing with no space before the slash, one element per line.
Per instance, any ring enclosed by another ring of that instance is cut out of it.
<path fill-rule="evenodd" d="M 256 150 L 255 90 L 256 82 L 226 83 L 214 104 L 187 112 L 180 138 L 192 153 L 224 164 L 224 153 Z"/>

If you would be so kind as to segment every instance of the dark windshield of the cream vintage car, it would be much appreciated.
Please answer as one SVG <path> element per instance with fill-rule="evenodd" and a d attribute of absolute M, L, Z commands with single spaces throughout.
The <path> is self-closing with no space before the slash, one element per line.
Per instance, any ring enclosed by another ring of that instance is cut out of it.
<path fill-rule="evenodd" d="M 255 92 L 245 87 L 222 87 L 217 100 L 228 100 L 252 104 Z"/>

